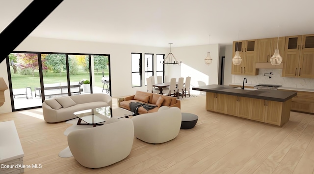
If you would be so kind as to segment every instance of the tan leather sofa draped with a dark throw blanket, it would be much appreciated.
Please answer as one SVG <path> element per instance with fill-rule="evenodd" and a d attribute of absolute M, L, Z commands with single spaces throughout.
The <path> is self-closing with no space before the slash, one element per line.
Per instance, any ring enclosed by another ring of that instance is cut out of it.
<path fill-rule="evenodd" d="M 156 103 L 159 97 L 163 98 L 164 101 L 158 107 Z M 150 109 L 150 110 L 146 110 L 143 107 L 140 107 L 137 110 L 138 114 L 157 112 L 158 109 L 162 106 L 178 107 L 179 109 L 181 109 L 180 100 L 177 100 L 176 97 L 160 95 L 160 94 L 155 94 L 155 93 L 150 93 L 150 92 L 143 92 L 143 91 L 136 91 L 135 95 L 131 95 L 129 97 L 124 98 L 124 101 L 120 103 L 120 108 L 131 110 L 130 108 L 131 102 L 140 102 L 140 103 L 144 103 L 148 105 L 157 106 L 156 108 Z"/>

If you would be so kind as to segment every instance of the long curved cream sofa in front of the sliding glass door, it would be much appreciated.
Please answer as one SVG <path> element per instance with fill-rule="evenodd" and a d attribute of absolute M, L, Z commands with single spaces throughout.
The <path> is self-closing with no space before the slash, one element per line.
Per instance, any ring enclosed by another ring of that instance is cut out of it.
<path fill-rule="evenodd" d="M 43 115 L 46 122 L 55 123 L 76 118 L 76 111 L 105 106 L 112 107 L 112 98 L 107 94 L 72 95 L 45 100 Z"/>

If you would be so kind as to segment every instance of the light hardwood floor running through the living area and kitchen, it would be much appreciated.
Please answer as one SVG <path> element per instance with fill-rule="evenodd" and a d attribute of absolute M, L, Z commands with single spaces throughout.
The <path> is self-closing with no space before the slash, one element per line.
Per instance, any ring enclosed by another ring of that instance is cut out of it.
<path fill-rule="evenodd" d="M 291 112 L 280 128 L 206 111 L 205 100 L 181 101 L 182 112 L 199 116 L 193 129 L 180 130 L 163 144 L 134 138 L 126 159 L 100 169 L 58 156 L 67 147 L 63 132 L 71 125 L 46 123 L 42 109 L 0 114 L 0 121 L 14 120 L 24 164 L 42 165 L 25 174 L 314 174 L 314 115 Z"/>

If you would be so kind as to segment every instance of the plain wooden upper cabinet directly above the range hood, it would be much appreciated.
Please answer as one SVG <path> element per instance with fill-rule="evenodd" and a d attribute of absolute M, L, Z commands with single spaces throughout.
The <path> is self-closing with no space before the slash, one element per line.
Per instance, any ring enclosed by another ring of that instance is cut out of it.
<path fill-rule="evenodd" d="M 270 58 L 277 49 L 278 38 L 266 38 L 258 40 L 257 63 L 270 63 Z M 281 56 L 285 54 L 286 37 L 279 37 L 278 49 Z"/>

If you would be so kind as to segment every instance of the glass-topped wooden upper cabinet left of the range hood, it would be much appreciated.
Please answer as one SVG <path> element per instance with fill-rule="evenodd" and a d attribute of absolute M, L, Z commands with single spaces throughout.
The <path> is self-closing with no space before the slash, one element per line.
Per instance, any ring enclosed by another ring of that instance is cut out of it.
<path fill-rule="evenodd" d="M 231 67 L 231 74 L 238 75 L 258 75 L 259 71 L 255 68 L 257 57 L 257 40 L 235 41 L 233 43 L 233 57 L 235 51 L 240 52 L 242 62 L 240 65 L 233 65 Z"/>

